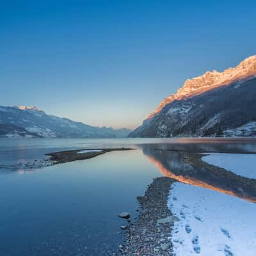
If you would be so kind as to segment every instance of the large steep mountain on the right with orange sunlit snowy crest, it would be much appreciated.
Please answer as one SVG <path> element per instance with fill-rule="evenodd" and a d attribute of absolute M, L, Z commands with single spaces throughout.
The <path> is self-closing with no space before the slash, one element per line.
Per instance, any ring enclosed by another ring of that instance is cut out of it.
<path fill-rule="evenodd" d="M 131 137 L 256 136 L 256 55 L 188 79 Z"/>

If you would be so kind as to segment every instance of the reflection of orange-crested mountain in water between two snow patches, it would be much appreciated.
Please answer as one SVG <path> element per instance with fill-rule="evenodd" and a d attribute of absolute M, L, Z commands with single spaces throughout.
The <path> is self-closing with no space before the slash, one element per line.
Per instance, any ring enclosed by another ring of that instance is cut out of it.
<path fill-rule="evenodd" d="M 234 174 L 223 175 L 223 173 L 211 172 L 204 166 L 193 162 L 184 163 L 184 153 L 182 152 L 144 148 L 143 153 L 166 177 L 256 203 L 256 180 L 243 178 L 246 181 L 243 182 L 243 179 L 239 179 L 239 177 L 234 179 L 234 176 L 237 178 L 237 175 Z"/>

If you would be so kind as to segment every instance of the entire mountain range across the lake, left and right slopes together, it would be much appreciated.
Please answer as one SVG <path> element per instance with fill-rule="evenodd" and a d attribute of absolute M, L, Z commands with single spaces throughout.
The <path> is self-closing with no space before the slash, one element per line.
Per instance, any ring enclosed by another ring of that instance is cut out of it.
<path fill-rule="evenodd" d="M 188 79 L 137 129 L 93 127 L 35 106 L 0 106 L 0 137 L 172 138 L 256 136 L 256 55 Z"/>

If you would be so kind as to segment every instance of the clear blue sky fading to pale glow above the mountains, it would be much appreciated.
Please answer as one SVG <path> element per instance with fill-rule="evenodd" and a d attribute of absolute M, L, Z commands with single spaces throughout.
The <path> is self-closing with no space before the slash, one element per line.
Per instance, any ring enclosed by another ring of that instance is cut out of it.
<path fill-rule="evenodd" d="M 253 1 L 1 1 L 0 105 L 136 127 L 188 78 L 256 53 Z"/>

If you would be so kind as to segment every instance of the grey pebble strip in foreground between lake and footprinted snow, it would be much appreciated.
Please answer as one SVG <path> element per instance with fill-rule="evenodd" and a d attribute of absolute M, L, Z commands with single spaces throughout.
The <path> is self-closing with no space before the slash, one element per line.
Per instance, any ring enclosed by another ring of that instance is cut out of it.
<path fill-rule="evenodd" d="M 124 231 L 126 241 L 118 246 L 114 255 L 172 255 L 171 231 L 174 221 L 179 221 L 179 218 L 173 216 L 167 202 L 170 186 L 175 181 L 157 177 L 144 196 L 137 196 L 138 217 L 134 223 L 128 223 Z"/>

